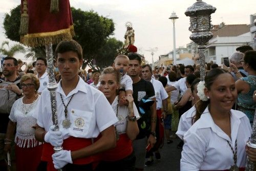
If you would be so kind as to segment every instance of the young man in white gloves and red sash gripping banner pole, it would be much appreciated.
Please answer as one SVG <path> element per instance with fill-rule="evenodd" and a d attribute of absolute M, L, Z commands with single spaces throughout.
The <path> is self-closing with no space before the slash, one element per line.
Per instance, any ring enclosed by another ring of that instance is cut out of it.
<path fill-rule="evenodd" d="M 42 170 L 93 170 L 97 155 L 116 145 L 113 124 L 118 119 L 103 93 L 78 76 L 82 65 L 78 42 L 63 40 L 55 53 L 61 75 L 56 89 L 59 131 L 53 131 L 50 92 L 46 89 L 34 115 L 38 124 L 35 136 L 45 142 L 40 166 Z M 53 146 L 63 146 L 63 150 L 53 154 Z"/>

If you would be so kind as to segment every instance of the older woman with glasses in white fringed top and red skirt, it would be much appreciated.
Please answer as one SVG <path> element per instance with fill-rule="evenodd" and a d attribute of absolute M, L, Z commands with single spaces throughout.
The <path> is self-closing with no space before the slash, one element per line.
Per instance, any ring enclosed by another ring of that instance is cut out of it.
<path fill-rule="evenodd" d="M 24 97 L 14 102 L 9 116 L 4 150 L 10 152 L 16 130 L 16 166 L 22 171 L 36 170 L 40 163 L 42 143 L 35 139 L 36 119 L 32 117 L 39 99 L 37 94 L 39 86 L 39 79 L 34 74 L 28 73 L 22 76 L 20 87 Z"/>

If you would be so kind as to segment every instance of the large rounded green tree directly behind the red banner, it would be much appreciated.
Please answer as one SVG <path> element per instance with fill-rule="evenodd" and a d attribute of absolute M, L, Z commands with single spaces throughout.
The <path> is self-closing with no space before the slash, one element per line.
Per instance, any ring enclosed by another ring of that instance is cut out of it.
<path fill-rule="evenodd" d="M 83 68 L 87 65 L 92 67 L 93 60 L 99 68 L 109 66 L 113 62 L 116 49 L 120 48 L 122 42 L 115 38 L 109 38 L 115 30 L 114 22 L 111 18 L 99 16 L 97 12 L 82 11 L 81 9 L 71 8 L 75 37 L 83 49 Z M 10 14 L 5 15 L 4 29 L 7 38 L 19 41 L 20 25 L 20 6 L 11 10 Z M 55 47 L 55 46 L 54 46 Z M 54 49 L 53 47 L 53 49 Z M 44 56 L 45 48 L 30 48 L 26 57 Z"/>

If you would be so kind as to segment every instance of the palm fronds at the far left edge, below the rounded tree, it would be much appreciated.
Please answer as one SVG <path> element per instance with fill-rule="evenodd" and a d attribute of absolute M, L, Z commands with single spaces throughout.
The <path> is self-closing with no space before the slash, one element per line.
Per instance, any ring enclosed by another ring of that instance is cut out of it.
<path fill-rule="evenodd" d="M 5 45 L 8 47 L 8 49 L 5 48 Z M 20 45 L 20 44 L 15 44 L 13 46 L 9 46 L 9 41 L 3 41 L 1 48 L 0 48 L 0 53 L 7 55 L 7 56 L 13 56 L 16 53 L 25 53 L 26 50 L 24 48 L 24 46 Z"/>

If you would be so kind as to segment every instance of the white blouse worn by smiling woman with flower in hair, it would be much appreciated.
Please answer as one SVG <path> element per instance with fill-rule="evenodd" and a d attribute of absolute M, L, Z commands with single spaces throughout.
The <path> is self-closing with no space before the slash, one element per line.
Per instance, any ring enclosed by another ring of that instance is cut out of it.
<path fill-rule="evenodd" d="M 226 170 L 234 165 L 233 153 L 237 140 L 237 166 L 245 167 L 245 145 L 251 136 L 247 116 L 230 110 L 231 139 L 217 126 L 208 108 L 184 135 L 180 170 Z"/>

